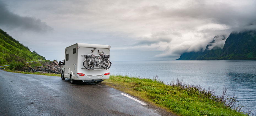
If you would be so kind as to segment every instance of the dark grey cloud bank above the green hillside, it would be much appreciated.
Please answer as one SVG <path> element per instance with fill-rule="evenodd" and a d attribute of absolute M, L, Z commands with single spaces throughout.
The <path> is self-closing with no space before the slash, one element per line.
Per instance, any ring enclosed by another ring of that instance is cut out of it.
<path fill-rule="evenodd" d="M 18 14 L 10 12 L 3 2 L 0 1 L 0 26 L 6 27 L 7 29 L 29 30 L 36 32 L 51 31 L 53 28 L 48 26 L 45 22 L 40 19 L 33 17 L 19 16 Z"/>

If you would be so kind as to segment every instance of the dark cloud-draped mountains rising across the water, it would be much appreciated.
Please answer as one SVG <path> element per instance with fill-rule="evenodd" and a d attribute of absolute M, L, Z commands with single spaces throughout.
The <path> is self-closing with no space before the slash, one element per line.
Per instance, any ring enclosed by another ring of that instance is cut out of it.
<path fill-rule="evenodd" d="M 225 36 L 215 36 L 203 52 L 186 52 L 176 60 L 245 60 L 256 59 L 256 31 L 243 31 Z"/>

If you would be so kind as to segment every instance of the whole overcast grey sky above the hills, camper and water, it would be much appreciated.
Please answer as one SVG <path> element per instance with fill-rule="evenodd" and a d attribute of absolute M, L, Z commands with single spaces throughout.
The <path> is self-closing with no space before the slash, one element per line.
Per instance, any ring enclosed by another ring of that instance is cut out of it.
<path fill-rule="evenodd" d="M 205 49 L 214 36 L 255 29 L 255 6 L 255 0 L 0 0 L 0 28 L 50 60 L 64 59 L 74 43 L 111 45 L 111 61 L 175 60 Z"/>

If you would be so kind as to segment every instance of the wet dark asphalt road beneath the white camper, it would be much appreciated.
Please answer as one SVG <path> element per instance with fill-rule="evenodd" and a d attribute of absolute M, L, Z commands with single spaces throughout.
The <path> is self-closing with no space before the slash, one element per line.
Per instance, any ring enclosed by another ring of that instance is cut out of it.
<path fill-rule="evenodd" d="M 101 83 L 0 70 L 0 115 L 161 115 Z"/>

